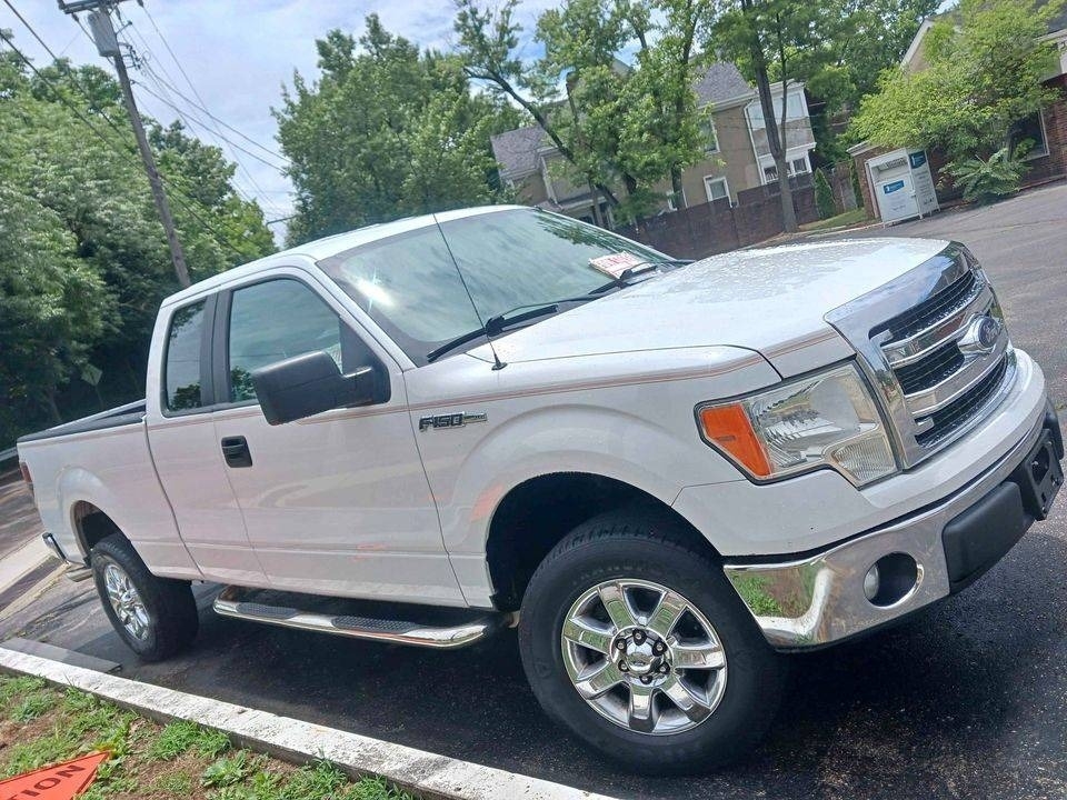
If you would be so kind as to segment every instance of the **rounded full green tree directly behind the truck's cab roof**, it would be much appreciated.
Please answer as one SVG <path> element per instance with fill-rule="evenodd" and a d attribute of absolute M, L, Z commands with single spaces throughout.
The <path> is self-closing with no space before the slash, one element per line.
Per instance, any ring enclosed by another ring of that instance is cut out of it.
<path fill-rule="evenodd" d="M 358 41 L 318 40 L 321 77 L 296 73 L 275 111 L 297 189 L 293 243 L 502 193 L 489 137 L 519 113 L 471 92 L 456 58 L 420 52 L 375 14 L 366 26 Z"/>

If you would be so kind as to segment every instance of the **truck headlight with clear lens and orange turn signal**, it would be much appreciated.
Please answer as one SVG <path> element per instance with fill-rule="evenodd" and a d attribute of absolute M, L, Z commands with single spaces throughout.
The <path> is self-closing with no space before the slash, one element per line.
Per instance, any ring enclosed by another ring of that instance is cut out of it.
<path fill-rule="evenodd" d="M 856 367 L 837 367 L 732 403 L 697 408 L 705 440 L 754 478 L 832 467 L 864 486 L 897 471 Z"/>

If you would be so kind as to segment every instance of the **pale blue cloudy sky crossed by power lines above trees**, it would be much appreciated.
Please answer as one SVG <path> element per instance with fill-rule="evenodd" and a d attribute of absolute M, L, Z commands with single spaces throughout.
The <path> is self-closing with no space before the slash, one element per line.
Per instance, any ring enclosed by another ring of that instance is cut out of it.
<path fill-rule="evenodd" d="M 97 53 L 88 36 L 74 20 L 59 10 L 54 0 L 10 0 L 10 3 L 57 54 L 74 63 L 93 63 L 112 71 L 110 64 Z M 518 19 L 527 29 L 527 34 L 532 30 L 538 12 L 554 4 L 554 0 L 522 2 Z M 130 71 L 134 83 L 144 84 L 134 84 L 133 88 L 142 113 L 163 123 L 178 119 L 173 109 L 152 97 L 148 90 L 163 98 L 169 94 L 170 101 L 182 108 L 193 134 L 220 146 L 227 158 L 240 162 L 235 182 L 246 196 L 259 201 L 268 220 L 292 213 L 292 187 L 278 169 L 283 166 L 282 161 L 268 152 L 280 151 L 275 139 L 277 126 L 270 109 L 281 104 L 281 87 L 291 86 L 293 70 L 305 78 L 318 74 L 317 38 L 333 28 L 358 37 L 366 17 L 377 12 L 387 30 L 423 48 L 446 49 L 453 40 L 452 0 L 144 0 L 144 8 L 131 0 L 122 2 L 119 10 L 122 20 L 128 23 L 120 38 L 133 44 L 146 64 Z M 84 17 L 82 23 L 88 28 Z M 11 30 L 18 47 L 38 66 L 50 61 L 44 49 L 3 3 L 0 3 L 0 28 Z M 177 63 L 168 52 L 168 44 L 177 57 Z M 195 92 L 178 64 L 188 74 Z M 199 94 L 202 103 L 198 104 L 267 148 L 267 151 L 233 131 L 219 127 L 169 89 L 161 90 L 147 70 L 195 102 Z M 200 127 L 189 119 L 190 116 L 208 123 L 210 128 Z M 261 157 L 262 161 L 235 150 L 221 141 L 216 131 L 221 131 L 232 142 Z M 285 224 L 273 224 L 271 230 L 280 239 Z"/>

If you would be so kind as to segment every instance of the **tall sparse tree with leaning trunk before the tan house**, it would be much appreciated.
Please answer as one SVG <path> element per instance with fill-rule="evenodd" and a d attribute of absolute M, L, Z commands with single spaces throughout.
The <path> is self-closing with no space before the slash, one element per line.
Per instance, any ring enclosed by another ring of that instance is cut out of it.
<path fill-rule="evenodd" d="M 456 30 L 468 74 L 526 109 L 574 173 L 624 219 L 664 200 L 669 180 L 704 152 L 694 81 L 712 6 L 698 0 L 566 0 L 537 21 L 544 54 L 519 58 L 517 0 L 500 9 L 459 0 Z M 624 64 L 620 53 L 632 53 Z M 625 194 L 617 197 L 621 183 Z"/>

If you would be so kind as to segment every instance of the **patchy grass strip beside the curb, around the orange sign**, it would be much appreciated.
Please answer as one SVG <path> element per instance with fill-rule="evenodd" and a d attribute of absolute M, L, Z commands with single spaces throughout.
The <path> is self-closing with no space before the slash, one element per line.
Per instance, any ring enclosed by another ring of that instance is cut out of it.
<path fill-rule="evenodd" d="M 0 676 L 0 780 L 103 749 L 112 757 L 81 800 L 415 800 L 325 761 L 297 769 L 231 752 L 225 733 L 192 722 L 159 726 L 84 692 Z"/>

